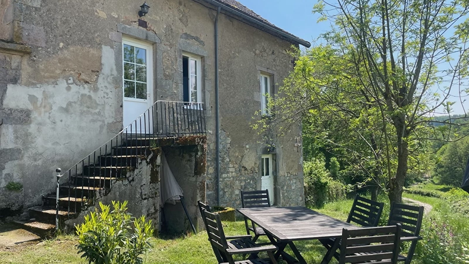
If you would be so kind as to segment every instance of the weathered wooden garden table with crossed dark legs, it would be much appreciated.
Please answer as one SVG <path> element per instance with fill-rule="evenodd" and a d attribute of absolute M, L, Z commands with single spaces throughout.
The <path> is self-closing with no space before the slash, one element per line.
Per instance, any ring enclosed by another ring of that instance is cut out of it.
<path fill-rule="evenodd" d="M 270 241 L 279 247 L 275 258 L 278 259 L 281 255 L 289 264 L 295 262 L 306 264 L 293 241 L 340 238 L 344 227 L 361 228 L 304 207 L 240 208 L 238 212 L 265 230 Z M 335 244 L 327 250 L 321 264 L 331 261 L 339 242 L 340 239 L 335 240 Z M 296 259 L 284 251 L 287 245 L 292 249 Z"/>

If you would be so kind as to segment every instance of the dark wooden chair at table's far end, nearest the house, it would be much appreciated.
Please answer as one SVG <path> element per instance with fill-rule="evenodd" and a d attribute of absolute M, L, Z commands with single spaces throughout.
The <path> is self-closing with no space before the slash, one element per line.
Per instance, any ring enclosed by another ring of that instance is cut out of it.
<path fill-rule="evenodd" d="M 242 208 L 270 207 L 269 190 L 241 190 L 241 204 Z M 248 235 L 250 235 L 250 232 L 254 233 L 252 241 L 256 242 L 259 236 L 265 235 L 264 229 L 256 226 L 252 221 L 251 225 L 249 225 L 248 219 L 244 218 L 244 224 L 246 225 L 246 232 Z"/>

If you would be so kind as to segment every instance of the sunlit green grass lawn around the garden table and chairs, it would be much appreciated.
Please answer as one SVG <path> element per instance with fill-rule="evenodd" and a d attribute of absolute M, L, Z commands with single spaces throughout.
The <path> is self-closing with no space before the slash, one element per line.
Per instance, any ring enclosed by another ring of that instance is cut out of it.
<path fill-rule="evenodd" d="M 431 221 L 439 224 L 446 223 L 451 225 L 454 235 L 469 237 L 469 219 L 460 214 L 456 214 L 449 209 L 446 202 L 439 198 L 424 197 L 416 194 L 404 194 L 404 197 L 429 203 L 433 206 L 433 210 L 424 218 L 424 227 L 428 228 Z M 385 202 L 380 225 L 386 223 L 389 211 L 389 201 L 385 195 L 381 195 L 379 199 Z M 344 200 L 331 202 L 322 209 L 315 209 L 321 213 L 334 218 L 346 220 L 353 200 Z M 431 218 L 431 220 L 430 220 Z M 245 234 L 244 221 L 224 222 L 224 229 L 227 235 Z M 265 238 L 261 238 L 265 240 Z M 440 241 L 435 241 L 439 243 Z M 154 238 L 151 241 L 152 251 L 144 256 L 146 264 L 215 264 L 217 263 L 213 255 L 212 248 L 207 241 L 205 231 L 188 236 L 162 239 Z M 84 259 L 76 253 L 77 249 L 76 237 L 74 235 L 60 235 L 56 239 L 47 240 L 38 245 L 25 246 L 10 251 L 0 251 L 1 264 L 53 264 L 53 263 L 70 263 L 70 264 L 86 264 Z M 302 252 L 305 260 L 310 264 L 320 263 L 325 255 L 325 248 L 318 241 L 299 241 L 295 242 L 297 248 Z M 424 248 L 420 251 L 421 255 L 414 257 L 412 264 L 432 263 L 425 261 Z M 291 253 L 291 252 L 290 252 Z M 331 263 L 336 264 L 335 259 Z M 445 262 L 441 262 L 445 263 Z M 457 262 L 459 263 L 459 262 Z M 462 262 L 461 262 L 462 263 Z"/>

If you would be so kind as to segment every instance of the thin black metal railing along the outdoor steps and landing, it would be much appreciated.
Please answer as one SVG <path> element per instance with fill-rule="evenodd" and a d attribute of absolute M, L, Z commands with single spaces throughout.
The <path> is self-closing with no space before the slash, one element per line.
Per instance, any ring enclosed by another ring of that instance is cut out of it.
<path fill-rule="evenodd" d="M 156 119 L 155 119 L 156 117 Z M 142 122 L 143 122 L 143 127 L 142 127 Z M 139 128 L 139 129 L 138 129 Z M 142 129 L 143 128 L 143 129 Z M 155 131 L 156 130 L 156 131 Z M 59 209 L 59 178 L 61 176 L 65 176 L 68 174 L 68 215 L 70 214 L 70 204 L 71 204 L 71 179 L 72 177 L 76 177 L 77 179 L 78 175 L 78 168 L 81 167 L 81 173 L 82 173 L 82 186 L 81 186 L 81 195 L 80 195 L 80 201 L 81 201 L 81 207 L 83 207 L 83 203 L 85 202 L 86 196 L 84 196 L 84 190 L 87 189 L 88 191 L 95 190 L 95 181 L 96 177 L 98 177 L 99 184 L 101 185 L 101 180 L 104 182 L 104 187 L 106 187 L 106 179 L 107 179 L 107 172 L 109 172 L 109 189 L 112 188 L 112 179 L 113 178 L 120 178 L 118 177 L 118 168 L 122 167 L 131 167 L 132 164 L 128 164 L 128 158 L 129 158 L 129 148 L 132 146 L 127 146 L 128 140 L 135 140 L 137 143 L 138 140 L 155 140 L 158 138 L 168 138 L 168 137 L 182 137 L 182 136 L 193 136 L 193 135 L 205 135 L 206 133 L 206 124 L 205 124 L 205 115 L 204 115 L 204 109 L 203 109 L 203 103 L 191 103 L 191 102 L 181 102 L 181 101 L 156 101 L 154 102 L 149 108 L 147 108 L 140 116 L 138 116 L 135 120 L 133 120 L 128 126 L 123 128 L 120 132 L 118 132 L 115 136 L 113 136 L 110 140 L 108 140 L 106 143 L 101 145 L 100 147 L 96 148 L 94 151 L 92 151 L 89 155 L 85 156 L 82 160 L 77 162 L 75 165 L 70 167 L 67 171 L 65 171 L 63 174 L 60 174 L 59 170 L 56 170 L 57 172 L 57 193 L 56 193 L 56 210 L 57 210 L 57 216 L 56 216 L 56 225 L 58 226 L 58 209 Z M 123 135 L 125 134 L 125 137 Z M 135 136 L 135 138 L 134 138 Z M 119 140 L 120 137 L 120 140 Z M 124 144 L 124 141 L 126 142 L 126 146 L 122 146 Z M 109 149 L 108 149 L 109 146 Z M 138 155 L 138 147 L 137 144 L 135 146 L 135 152 L 136 155 Z M 142 146 L 140 146 L 142 147 Z M 119 164 L 117 163 L 115 166 L 113 166 L 113 148 L 116 149 L 115 156 L 116 158 L 119 156 L 124 156 L 125 157 L 125 166 L 124 164 Z M 120 154 L 119 154 L 119 149 L 120 148 Z M 125 155 L 122 153 L 123 148 L 126 148 L 126 153 Z M 108 154 L 109 152 L 109 154 Z M 99 173 L 96 173 L 96 168 L 93 168 L 92 166 L 97 163 L 97 155 L 98 158 L 100 159 L 98 164 L 100 165 L 98 167 Z M 132 153 L 131 153 L 132 154 Z M 101 168 L 103 168 L 102 164 L 102 158 L 104 155 L 104 177 L 103 173 L 101 173 Z M 111 164 L 110 166 L 107 166 L 107 157 L 110 155 L 111 157 Z M 92 164 L 91 164 L 92 160 Z M 85 165 L 85 163 L 87 165 Z M 84 185 L 84 180 L 85 180 L 85 169 L 88 170 L 89 175 L 88 176 L 88 186 Z M 109 171 L 106 171 L 108 169 Z M 72 171 L 75 170 L 75 174 L 72 175 Z M 91 173 L 91 170 L 93 170 L 93 173 Z M 115 170 L 115 177 L 113 177 L 113 170 Z M 92 175 L 91 175 L 92 174 Z M 98 174 L 98 175 L 96 175 Z M 89 180 L 91 179 L 91 176 L 93 176 L 93 186 L 90 186 Z M 78 192 L 80 186 L 75 186 L 74 192 Z M 76 197 L 73 198 L 78 198 L 75 194 Z M 93 195 L 93 202 L 94 202 L 94 195 Z M 76 203 L 78 200 L 75 200 L 75 210 L 74 212 L 76 213 Z M 58 227 L 57 227 L 58 228 Z"/>

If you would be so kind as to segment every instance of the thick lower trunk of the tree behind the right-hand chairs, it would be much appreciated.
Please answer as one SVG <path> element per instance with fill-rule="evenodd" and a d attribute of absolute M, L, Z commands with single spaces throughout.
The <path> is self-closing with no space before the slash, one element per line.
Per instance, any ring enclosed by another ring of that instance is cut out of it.
<path fill-rule="evenodd" d="M 397 170 L 396 175 L 389 181 L 389 201 L 402 202 L 402 188 L 408 169 L 408 132 L 403 125 L 405 116 L 401 115 L 394 119 L 397 132 Z"/>

